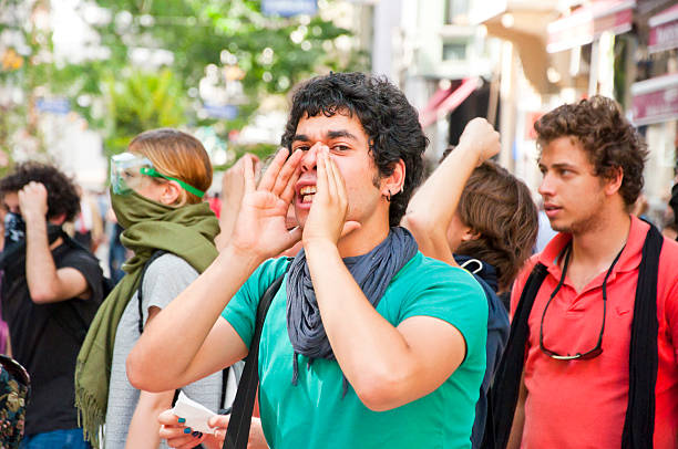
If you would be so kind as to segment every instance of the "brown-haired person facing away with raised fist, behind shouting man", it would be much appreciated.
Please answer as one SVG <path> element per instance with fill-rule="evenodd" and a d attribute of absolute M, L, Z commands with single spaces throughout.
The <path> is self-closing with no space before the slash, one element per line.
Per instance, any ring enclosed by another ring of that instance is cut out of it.
<path fill-rule="evenodd" d="M 508 311 L 500 299 L 527 258 L 537 234 L 537 210 L 530 189 L 490 157 L 499 133 L 483 118 L 471 121 L 453 150 L 410 200 L 402 224 L 424 255 L 472 272 L 487 300 L 486 368 L 471 442 L 485 431 L 487 393 L 508 340 Z"/>

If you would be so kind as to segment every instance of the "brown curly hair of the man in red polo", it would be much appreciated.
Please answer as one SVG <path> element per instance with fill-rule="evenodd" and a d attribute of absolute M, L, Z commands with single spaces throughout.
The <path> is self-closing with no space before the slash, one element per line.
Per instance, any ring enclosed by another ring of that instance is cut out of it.
<path fill-rule="evenodd" d="M 596 176 L 612 179 L 622 169 L 619 194 L 626 206 L 630 207 L 640 195 L 647 145 L 614 100 L 594 95 L 558 106 L 540 118 L 534 129 L 542 149 L 558 137 L 575 137 Z"/>

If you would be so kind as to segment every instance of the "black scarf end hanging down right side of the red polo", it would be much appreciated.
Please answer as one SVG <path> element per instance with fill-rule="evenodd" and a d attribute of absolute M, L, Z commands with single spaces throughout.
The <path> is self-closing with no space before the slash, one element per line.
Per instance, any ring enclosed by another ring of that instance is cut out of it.
<path fill-rule="evenodd" d="M 649 224 L 650 229 L 643 244 L 643 260 L 638 268 L 631 321 L 628 406 L 622 434 L 624 449 L 651 448 L 655 435 L 655 387 L 659 365 L 657 281 L 664 238 L 654 224 Z"/>

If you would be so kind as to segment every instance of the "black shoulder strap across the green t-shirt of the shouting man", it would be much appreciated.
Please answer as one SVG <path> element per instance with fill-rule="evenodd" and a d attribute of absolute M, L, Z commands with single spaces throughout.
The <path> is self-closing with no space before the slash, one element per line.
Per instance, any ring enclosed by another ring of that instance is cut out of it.
<path fill-rule="evenodd" d="M 287 268 L 289 269 L 289 264 Z M 254 401 L 259 385 L 259 341 L 261 338 L 261 330 L 264 328 L 264 321 L 266 320 L 268 307 L 280 289 L 286 273 L 287 270 L 276 278 L 259 300 L 255 332 L 251 337 L 251 343 L 249 344 L 249 353 L 245 358 L 245 369 L 243 370 L 243 377 L 240 377 L 240 383 L 238 384 L 238 391 L 233 403 L 233 411 L 230 414 L 230 420 L 228 421 L 228 429 L 226 430 L 223 449 L 247 448 L 251 411 L 254 409 Z"/>

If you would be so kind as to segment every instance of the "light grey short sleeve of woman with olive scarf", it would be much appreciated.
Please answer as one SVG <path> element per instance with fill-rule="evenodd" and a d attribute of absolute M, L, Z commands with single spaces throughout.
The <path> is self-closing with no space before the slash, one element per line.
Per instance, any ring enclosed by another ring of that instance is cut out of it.
<path fill-rule="evenodd" d="M 144 274 L 144 311 L 155 306 L 165 309 L 198 276 L 198 272 L 184 259 L 163 254 L 154 260 Z M 144 317 L 144 322 L 147 314 Z"/>

